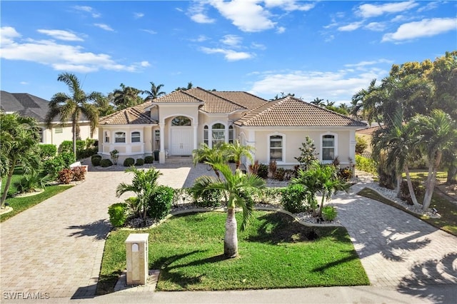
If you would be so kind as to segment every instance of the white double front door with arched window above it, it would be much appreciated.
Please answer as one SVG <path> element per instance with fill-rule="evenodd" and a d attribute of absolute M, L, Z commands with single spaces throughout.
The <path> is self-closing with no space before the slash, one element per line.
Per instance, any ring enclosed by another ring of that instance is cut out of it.
<path fill-rule="evenodd" d="M 194 148 L 192 121 L 186 116 L 176 116 L 170 126 L 170 155 L 191 155 Z"/>

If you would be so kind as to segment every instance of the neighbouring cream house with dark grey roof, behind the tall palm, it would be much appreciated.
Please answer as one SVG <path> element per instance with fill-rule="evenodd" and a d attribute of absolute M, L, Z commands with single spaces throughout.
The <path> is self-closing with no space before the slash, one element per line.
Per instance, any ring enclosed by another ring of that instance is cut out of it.
<path fill-rule="evenodd" d="M 0 91 L 0 108 L 5 113 L 18 113 L 20 116 L 35 118 L 40 126 L 41 143 L 56 145 L 57 148 L 63 141 L 72 141 L 71 121 L 62 124 L 59 117 L 54 118 L 51 128 L 46 126 L 45 117 L 49 110 L 49 101 L 28 93 L 9 93 Z M 81 139 L 97 139 L 99 133 L 91 134 L 89 121 L 79 122 L 79 137 Z"/>

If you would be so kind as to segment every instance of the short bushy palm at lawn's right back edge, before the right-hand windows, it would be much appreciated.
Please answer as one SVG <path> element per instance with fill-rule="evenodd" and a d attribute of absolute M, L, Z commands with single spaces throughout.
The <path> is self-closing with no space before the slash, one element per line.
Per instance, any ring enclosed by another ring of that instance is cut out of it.
<path fill-rule="evenodd" d="M 322 200 L 317 216 L 322 216 L 323 203 L 329 201 L 333 194 L 338 191 L 346 191 L 349 184 L 338 178 L 336 167 L 331 165 L 322 165 L 318 161 L 313 161 L 308 170 L 298 170 L 298 177 L 292 178 L 292 184 L 301 184 L 316 200 L 316 193 L 321 193 Z"/>

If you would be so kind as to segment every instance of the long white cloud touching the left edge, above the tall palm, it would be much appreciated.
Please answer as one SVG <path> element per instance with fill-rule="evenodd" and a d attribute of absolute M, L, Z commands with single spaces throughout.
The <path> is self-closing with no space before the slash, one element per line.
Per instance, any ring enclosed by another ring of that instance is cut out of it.
<path fill-rule="evenodd" d="M 16 29 L 1 28 L 0 57 L 6 60 L 31 61 L 51 66 L 57 71 L 74 71 L 88 73 L 101 69 L 109 71 L 139 71 L 149 66 L 148 61 L 130 65 L 119 64 L 108 54 L 94 54 L 84 51 L 82 46 L 58 44 L 52 40 L 24 39 Z"/>

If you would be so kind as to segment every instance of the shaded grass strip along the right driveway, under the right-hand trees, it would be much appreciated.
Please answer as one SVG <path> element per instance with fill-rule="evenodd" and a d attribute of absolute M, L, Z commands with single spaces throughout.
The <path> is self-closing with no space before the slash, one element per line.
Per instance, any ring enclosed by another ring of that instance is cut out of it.
<path fill-rule="evenodd" d="M 433 193 L 430 208 L 436 208 L 436 210 L 438 210 L 438 213 L 441 215 L 441 218 L 429 218 L 428 216 L 421 216 L 419 214 L 408 211 L 406 208 L 403 208 L 402 206 L 399 206 L 397 203 L 394 203 L 388 198 L 381 196 L 379 193 L 377 193 L 371 188 L 363 188 L 357 194 L 359 196 L 372 198 L 373 200 L 380 201 L 381 203 L 385 203 L 389 206 L 398 208 L 401 211 L 405 211 L 411 214 L 411 216 L 420 218 L 422 221 L 430 224 L 433 227 L 436 227 L 438 229 L 446 231 L 447 233 L 451 233 L 452 235 L 457 236 L 457 206 L 456 204 L 451 203 L 446 198 L 443 198 L 442 196 L 439 196 L 436 193 Z M 421 198 L 418 198 L 418 200 L 420 201 Z"/>

